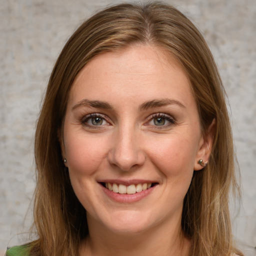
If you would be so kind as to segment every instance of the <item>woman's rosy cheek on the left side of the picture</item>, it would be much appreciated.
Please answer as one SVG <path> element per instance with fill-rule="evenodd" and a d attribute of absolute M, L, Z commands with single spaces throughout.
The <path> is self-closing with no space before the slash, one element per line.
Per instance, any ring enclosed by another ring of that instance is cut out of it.
<path fill-rule="evenodd" d="M 81 132 L 69 132 L 65 136 L 65 152 L 71 185 L 86 210 L 93 205 L 93 198 L 88 191 L 94 191 L 94 195 L 98 193 L 93 184 L 99 165 L 104 162 L 106 148 L 103 141 Z"/>

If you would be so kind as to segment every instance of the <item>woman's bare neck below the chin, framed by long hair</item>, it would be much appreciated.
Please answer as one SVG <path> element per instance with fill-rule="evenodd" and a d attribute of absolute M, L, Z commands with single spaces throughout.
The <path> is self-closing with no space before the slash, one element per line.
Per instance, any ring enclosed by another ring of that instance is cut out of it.
<path fill-rule="evenodd" d="M 88 224 L 89 235 L 82 242 L 81 256 L 189 255 L 190 240 L 184 236 L 180 222 L 171 227 L 165 223 L 135 234 L 113 233 L 102 226 L 95 228 L 97 224 L 93 223 L 93 228 Z"/>

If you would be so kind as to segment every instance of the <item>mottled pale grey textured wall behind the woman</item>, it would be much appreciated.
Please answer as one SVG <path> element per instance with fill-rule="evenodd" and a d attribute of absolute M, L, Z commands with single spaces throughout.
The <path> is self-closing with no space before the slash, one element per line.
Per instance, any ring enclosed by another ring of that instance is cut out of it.
<path fill-rule="evenodd" d="M 28 210 L 24 223 L 34 189 L 34 127 L 54 60 L 85 17 L 117 2 L 0 0 L 0 255 L 7 244 L 17 242 L 16 233 L 27 231 L 31 219 Z M 243 186 L 243 205 L 232 210 L 234 235 L 243 245 L 255 246 L 256 1 L 167 2 L 197 24 L 219 66 L 229 96 Z"/>

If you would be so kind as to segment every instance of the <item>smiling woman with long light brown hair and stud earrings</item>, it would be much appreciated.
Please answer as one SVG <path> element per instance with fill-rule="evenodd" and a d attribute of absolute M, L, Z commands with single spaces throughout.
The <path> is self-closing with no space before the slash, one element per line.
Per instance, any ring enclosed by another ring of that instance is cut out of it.
<path fill-rule="evenodd" d="M 172 6 L 124 3 L 81 24 L 51 73 L 35 162 L 38 239 L 7 255 L 242 255 L 224 89 Z"/>

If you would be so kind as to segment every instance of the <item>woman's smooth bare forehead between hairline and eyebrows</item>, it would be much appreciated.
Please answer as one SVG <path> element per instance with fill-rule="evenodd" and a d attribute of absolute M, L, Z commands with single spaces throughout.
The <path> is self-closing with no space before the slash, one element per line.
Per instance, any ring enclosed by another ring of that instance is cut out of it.
<path fill-rule="evenodd" d="M 76 75 L 69 99 L 132 100 L 134 95 L 141 100 L 166 96 L 187 103 L 193 100 L 180 62 L 164 49 L 150 45 L 129 46 L 96 56 Z"/>

